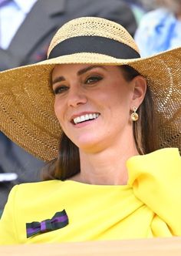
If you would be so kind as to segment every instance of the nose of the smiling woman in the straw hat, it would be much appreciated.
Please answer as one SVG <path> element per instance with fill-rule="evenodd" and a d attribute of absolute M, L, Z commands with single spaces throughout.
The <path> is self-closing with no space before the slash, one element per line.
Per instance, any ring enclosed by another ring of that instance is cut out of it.
<path fill-rule="evenodd" d="M 76 88 L 74 89 L 69 89 L 67 106 L 77 107 L 85 103 L 87 103 L 87 96 L 81 88 L 78 88 L 78 86 L 76 86 Z"/>

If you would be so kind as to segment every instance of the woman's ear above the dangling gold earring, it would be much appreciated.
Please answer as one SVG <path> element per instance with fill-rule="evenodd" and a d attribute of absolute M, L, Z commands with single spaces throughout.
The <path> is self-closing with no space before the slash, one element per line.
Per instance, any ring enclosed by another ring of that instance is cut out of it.
<path fill-rule="evenodd" d="M 130 109 L 133 109 L 133 106 L 138 108 L 143 102 L 147 86 L 146 79 L 143 76 L 136 76 L 131 82 L 133 83 L 133 96 Z"/>

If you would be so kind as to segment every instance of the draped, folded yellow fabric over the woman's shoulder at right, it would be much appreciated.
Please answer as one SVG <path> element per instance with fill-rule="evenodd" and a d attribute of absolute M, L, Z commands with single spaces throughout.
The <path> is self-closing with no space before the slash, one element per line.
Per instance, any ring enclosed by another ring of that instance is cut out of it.
<path fill-rule="evenodd" d="M 181 157 L 176 148 L 156 150 L 127 161 L 135 196 L 181 235 Z"/>

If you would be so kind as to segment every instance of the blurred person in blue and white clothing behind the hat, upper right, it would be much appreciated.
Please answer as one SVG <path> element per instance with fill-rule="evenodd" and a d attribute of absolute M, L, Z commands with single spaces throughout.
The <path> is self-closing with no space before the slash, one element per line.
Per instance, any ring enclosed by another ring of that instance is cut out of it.
<path fill-rule="evenodd" d="M 178 47 L 180 31 L 181 0 L 155 0 L 153 10 L 142 16 L 134 38 L 141 56 L 151 56 Z"/>

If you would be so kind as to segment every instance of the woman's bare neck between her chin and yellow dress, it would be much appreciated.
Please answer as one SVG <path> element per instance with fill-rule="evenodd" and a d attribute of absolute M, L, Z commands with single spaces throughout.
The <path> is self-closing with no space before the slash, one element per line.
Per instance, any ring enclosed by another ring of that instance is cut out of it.
<path fill-rule="evenodd" d="M 138 155 L 138 152 L 133 140 L 127 141 L 127 145 L 114 143 L 114 147 L 108 147 L 98 153 L 85 153 L 80 150 L 81 173 L 72 180 L 85 184 L 126 185 L 126 162 L 135 155 Z"/>

